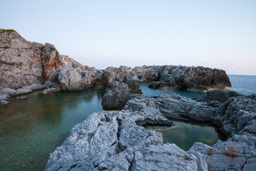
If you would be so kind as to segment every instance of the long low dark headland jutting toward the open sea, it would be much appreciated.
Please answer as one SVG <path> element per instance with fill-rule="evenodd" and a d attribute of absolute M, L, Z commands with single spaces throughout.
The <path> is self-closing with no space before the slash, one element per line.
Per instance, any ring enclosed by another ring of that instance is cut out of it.
<path fill-rule="evenodd" d="M 125 76 L 132 76 L 135 81 L 149 81 L 150 88 L 169 88 L 181 90 L 209 90 L 231 87 L 225 71 L 204 68 L 203 66 L 142 66 L 130 68 L 107 68 L 115 74 L 117 81 L 124 81 Z"/>

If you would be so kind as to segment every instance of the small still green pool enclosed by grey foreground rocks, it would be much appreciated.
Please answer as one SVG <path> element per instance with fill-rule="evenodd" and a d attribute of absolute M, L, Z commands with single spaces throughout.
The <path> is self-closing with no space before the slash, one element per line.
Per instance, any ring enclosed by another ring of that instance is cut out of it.
<path fill-rule="evenodd" d="M 174 121 L 171 127 L 146 125 L 145 128 L 162 133 L 166 142 L 174 143 L 183 150 L 189 150 L 195 142 L 203 142 L 212 146 L 218 140 L 223 139 L 223 135 L 217 133 L 210 125 Z"/>

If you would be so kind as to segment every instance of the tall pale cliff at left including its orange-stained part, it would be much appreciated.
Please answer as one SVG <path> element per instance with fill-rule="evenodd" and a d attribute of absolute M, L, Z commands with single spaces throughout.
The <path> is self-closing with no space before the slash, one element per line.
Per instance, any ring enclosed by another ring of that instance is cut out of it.
<path fill-rule="evenodd" d="M 31 43 L 16 31 L 0 31 L 0 90 L 43 84 L 56 69 L 65 66 L 84 67 L 61 56 L 50 43 Z"/>

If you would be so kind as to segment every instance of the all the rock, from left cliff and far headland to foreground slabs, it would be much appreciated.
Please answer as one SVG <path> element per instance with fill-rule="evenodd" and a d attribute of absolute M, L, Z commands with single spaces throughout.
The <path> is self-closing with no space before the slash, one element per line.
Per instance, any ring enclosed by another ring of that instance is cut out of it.
<path fill-rule="evenodd" d="M 203 66 L 120 66 L 97 70 L 61 55 L 50 43 L 0 30 L 0 108 L 58 92 L 106 88 L 103 111 L 92 113 L 48 158 L 45 170 L 255 170 L 256 96 L 232 90 L 225 71 Z M 200 98 L 143 94 L 149 88 L 205 91 Z M 211 90 L 214 89 L 214 90 Z M 23 95 L 23 96 L 21 96 Z M 187 151 L 145 125 L 172 120 L 208 123 L 225 135 Z"/>

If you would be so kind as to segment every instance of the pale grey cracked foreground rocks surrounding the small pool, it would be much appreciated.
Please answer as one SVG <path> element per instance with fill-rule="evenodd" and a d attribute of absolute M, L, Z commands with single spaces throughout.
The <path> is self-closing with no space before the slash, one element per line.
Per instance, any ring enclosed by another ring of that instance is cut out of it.
<path fill-rule="evenodd" d="M 50 154 L 45 170 L 254 170 L 255 95 L 213 90 L 206 96 L 138 95 L 121 111 L 93 113 Z M 210 122 L 228 140 L 213 147 L 196 142 L 185 152 L 142 127 L 171 125 L 170 118 Z"/>

